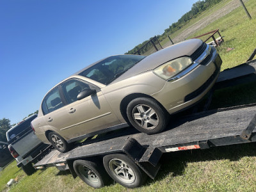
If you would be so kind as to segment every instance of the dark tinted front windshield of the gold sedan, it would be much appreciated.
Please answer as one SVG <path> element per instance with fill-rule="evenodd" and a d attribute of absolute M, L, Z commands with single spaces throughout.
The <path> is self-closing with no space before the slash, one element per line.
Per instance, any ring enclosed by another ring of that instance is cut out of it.
<path fill-rule="evenodd" d="M 145 56 L 140 55 L 120 55 L 111 56 L 99 63 L 87 68 L 79 75 L 93 79 L 102 84 L 109 84 L 117 77 L 124 74 L 129 68 L 143 60 Z"/>

